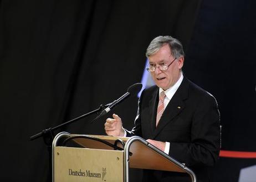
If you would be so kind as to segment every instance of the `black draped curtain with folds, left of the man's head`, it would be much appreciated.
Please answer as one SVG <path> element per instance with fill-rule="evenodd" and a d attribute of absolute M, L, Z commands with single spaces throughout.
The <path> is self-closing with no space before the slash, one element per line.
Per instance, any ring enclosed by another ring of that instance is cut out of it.
<path fill-rule="evenodd" d="M 140 82 L 154 37 L 173 35 L 186 46 L 200 2 L 1 1 L 1 181 L 47 181 L 47 148 L 29 136 Z M 114 111 L 131 129 L 136 110 L 131 97 Z M 106 117 L 59 131 L 105 134 Z"/>

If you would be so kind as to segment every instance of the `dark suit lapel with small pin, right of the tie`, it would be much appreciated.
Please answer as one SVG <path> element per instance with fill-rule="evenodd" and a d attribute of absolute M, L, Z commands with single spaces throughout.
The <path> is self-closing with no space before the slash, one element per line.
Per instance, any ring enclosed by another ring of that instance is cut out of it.
<path fill-rule="evenodd" d="M 175 118 L 186 107 L 184 100 L 187 97 L 188 81 L 186 77 L 184 77 L 180 87 L 176 91 L 175 95 L 173 95 L 173 97 L 171 98 L 171 101 L 168 103 L 167 107 L 165 108 L 165 111 L 163 111 L 163 115 L 158 123 L 157 128 L 153 130 L 153 138 L 155 138 L 157 134 L 160 133 L 161 130 L 166 126 L 166 124 L 172 122 L 173 118 Z M 155 115 L 156 112 L 157 111 L 155 111 Z"/>

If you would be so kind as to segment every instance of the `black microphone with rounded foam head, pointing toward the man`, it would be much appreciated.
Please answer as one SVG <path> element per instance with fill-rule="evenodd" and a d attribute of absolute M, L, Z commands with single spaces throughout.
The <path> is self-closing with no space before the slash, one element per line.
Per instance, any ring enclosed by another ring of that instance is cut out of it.
<path fill-rule="evenodd" d="M 104 116 L 106 113 L 108 113 L 112 108 L 114 108 L 116 105 L 118 105 L 120 102 L 124 101 L 127 97 L 129 97 L 130 95 L 137 95 L 137 93 L 142 89 L 142 84 L 141 83 L 136 83 L 133 84 L 131 86 L 129 86 L 129 88 L 127 89 L 127 92 L 122 95 L 120 98 L 118 98 L 117 100 L 107 104 L 107 108 L 105 108 L 105 110 L 103 110 L 99 116 L 97 116 L 94 121 L 96 119 L 98 119 L 101 116 Z"/>

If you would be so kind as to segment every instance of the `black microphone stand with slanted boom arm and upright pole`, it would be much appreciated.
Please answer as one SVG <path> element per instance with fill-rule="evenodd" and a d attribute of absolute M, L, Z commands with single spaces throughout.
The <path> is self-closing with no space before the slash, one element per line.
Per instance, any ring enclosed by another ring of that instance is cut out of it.
<path fill-rule="evenodd" d="M 110 104 L 111 103 L 109 103 L 107 105 L 100 105 L 100 107 L 98 109 L 94 110 L 94 111 L 88 112 L 84 115 L 81 115 L 79 117 L 71 119 L 70 121 L 59 124 L 58 126 L 55 126 L 53 128 L 44 129 L 42 132 L 34 134 L 33 136 L 30 137 L 30 141 L 33 141 L 34 139 L 37 139 L 37 138 L 40 138 L 40 137 L 43 137 L 44 143 L 47 145 L 47 150 L 48 150 L 48 153 L 49 153 L 49 178 L 50 178 L 49 181 L 52 181 L 52 177 L 53 177 L 52 176 L 53 175 L 52 174 L 52 143 L 53 143 L 53 138 L 54 138 L 53 137 L 54 136 L 53 131 L 55 131 L 58 128 L 64 127 L 68 124 L 74 123 L 75 121 L 78 121 L 79 119 L 84 118 L 86 116 L 93 115 L 94 113 L 99 113 L 100 111 L 102 111 L 106 107 L 108 107 Z M 100 117 L 96 117 L 93 121 L 95 121 L 98 118 L 100 118 Z"/>

